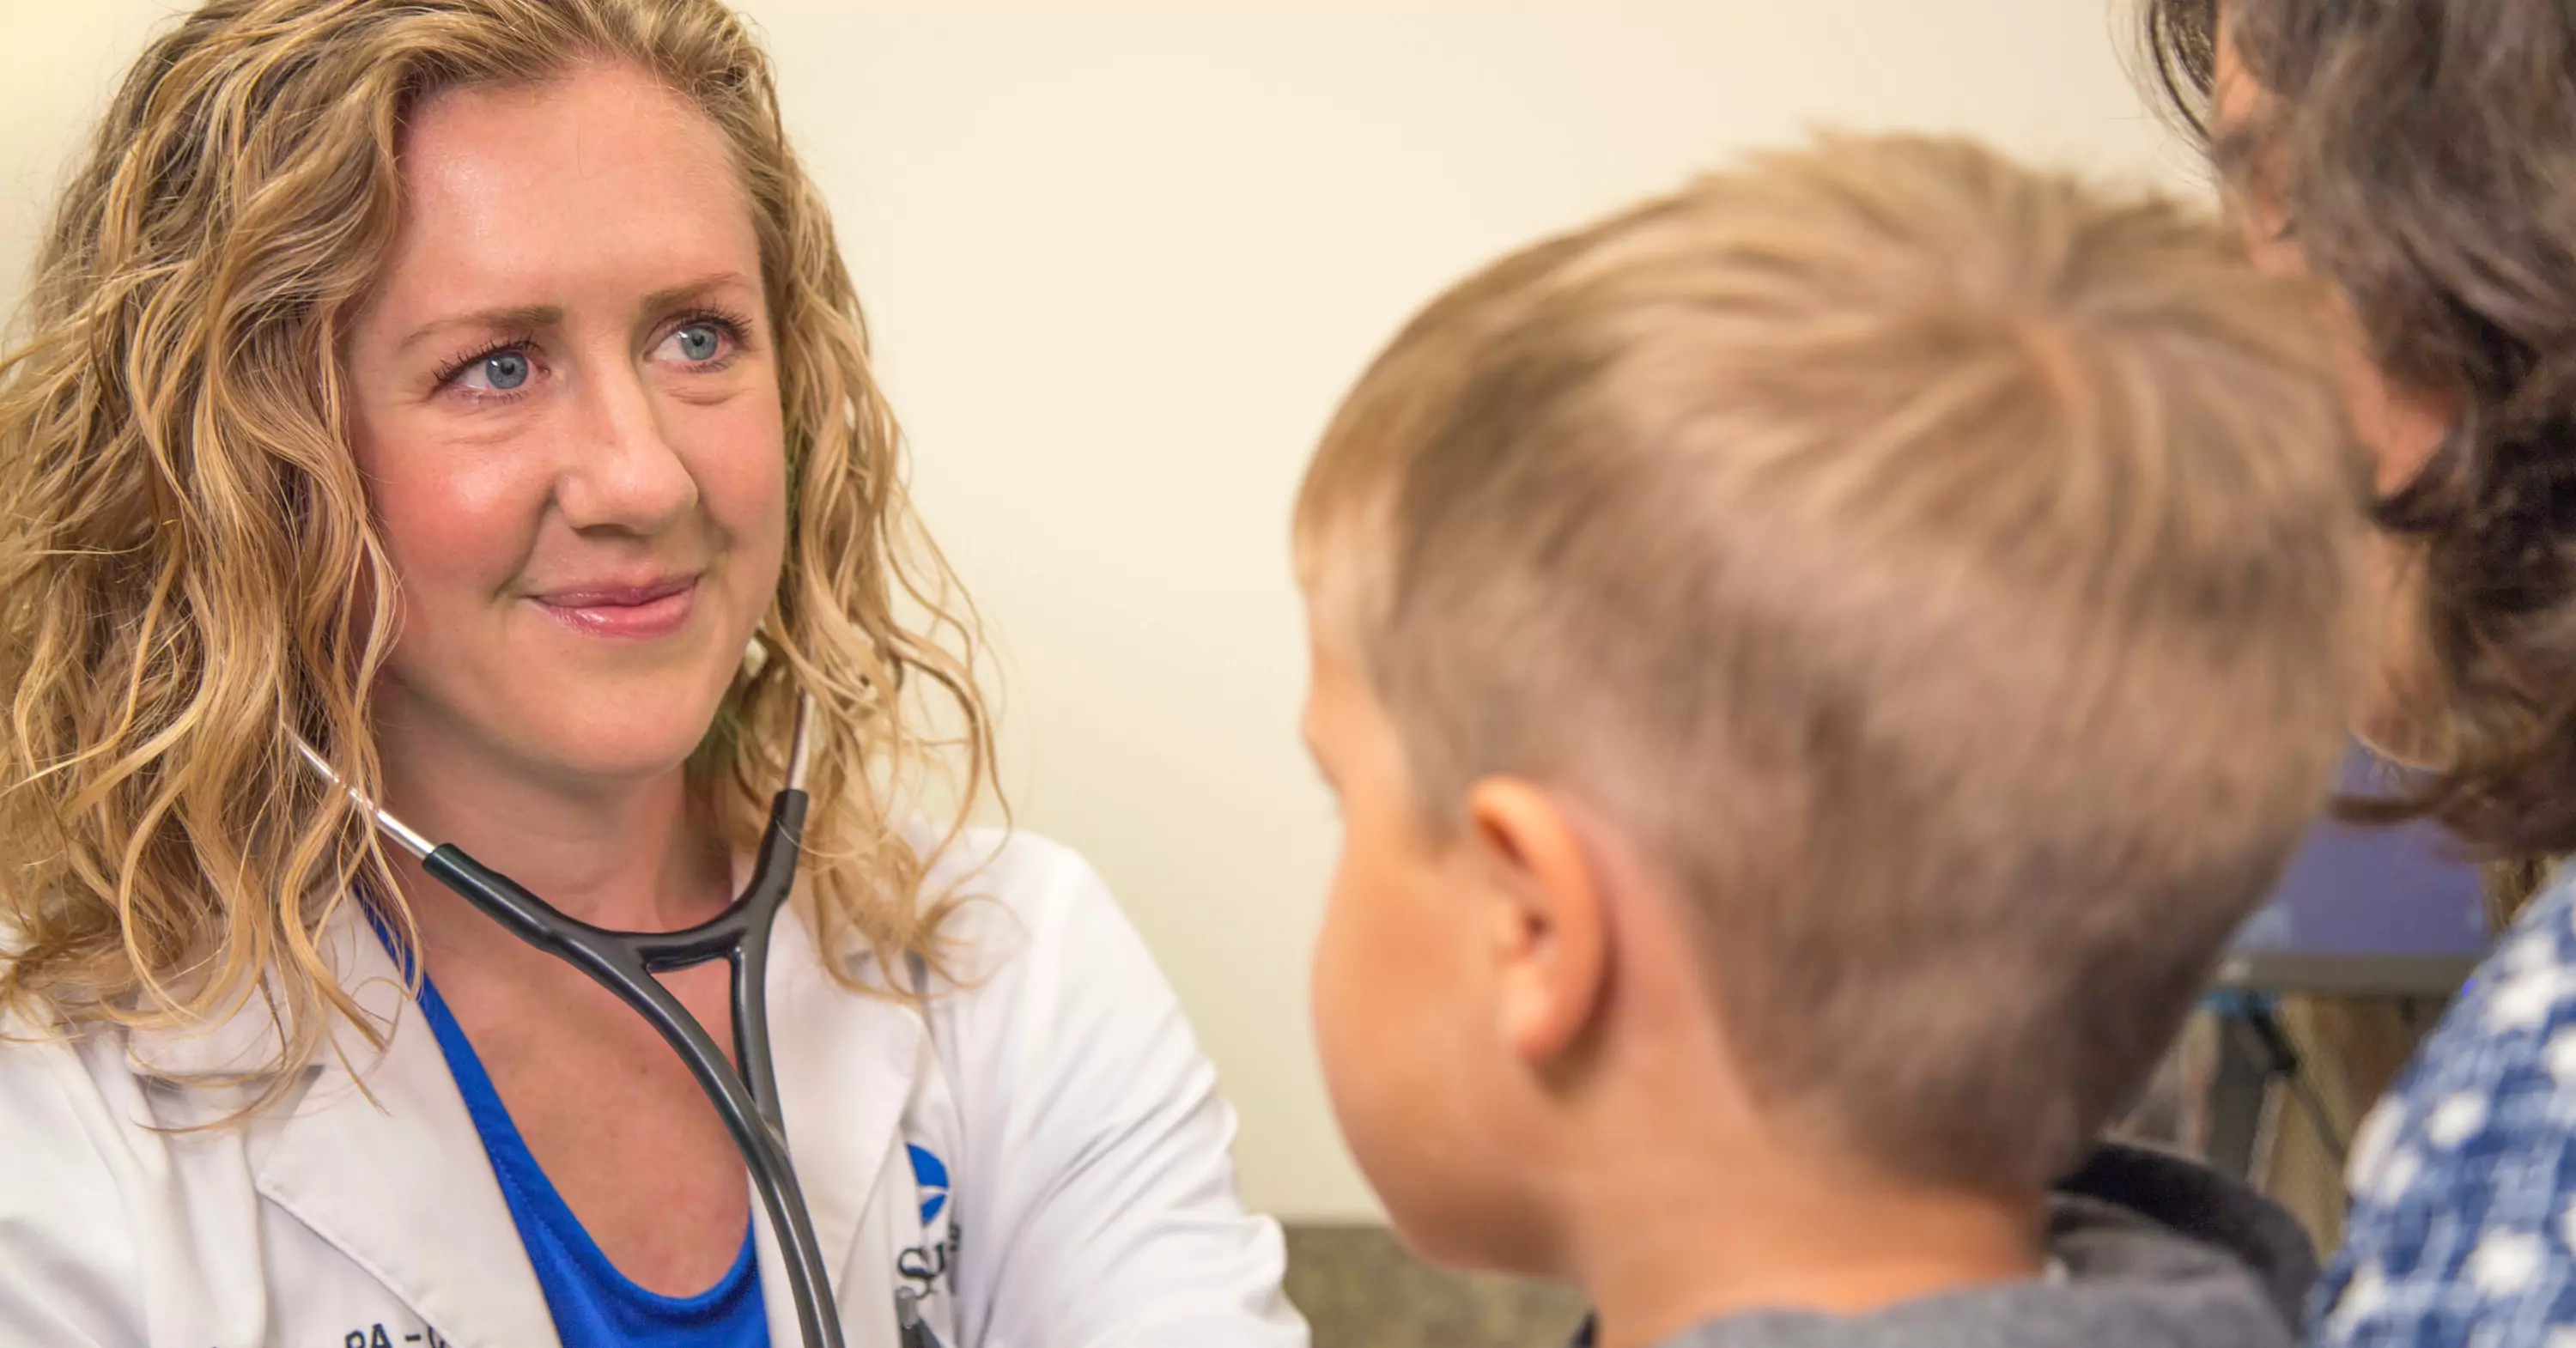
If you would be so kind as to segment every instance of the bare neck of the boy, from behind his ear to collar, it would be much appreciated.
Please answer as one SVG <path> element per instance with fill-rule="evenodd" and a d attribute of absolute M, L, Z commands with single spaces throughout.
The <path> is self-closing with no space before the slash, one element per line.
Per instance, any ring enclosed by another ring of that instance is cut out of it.
<path fill-rule="evenodd" d="M 1620 977 L 1582 1072 L 1548 1083 L 1546 1101 L 1571 1183 L 1551 1186 L 1543 1271 L 1592 1296 L 1600 1348 L 1754 1309 L 1865 1314 L 2040 1273 L 2045 1193 L 1891 1178 L 1765 1106 L 1687 954 L 1703 933 L 1685 907 L 1638 879 L 1613 894 Z"/>

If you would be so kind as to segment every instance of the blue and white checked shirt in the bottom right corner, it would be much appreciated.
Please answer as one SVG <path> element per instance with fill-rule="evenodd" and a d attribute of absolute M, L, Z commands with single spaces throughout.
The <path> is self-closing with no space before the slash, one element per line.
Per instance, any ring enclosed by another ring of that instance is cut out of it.
<path fill-rule="evenodd" d="M 2311 1343 L 2576 1348 L 2576 876 L 2478 967 L 2349 1178 Z"/>

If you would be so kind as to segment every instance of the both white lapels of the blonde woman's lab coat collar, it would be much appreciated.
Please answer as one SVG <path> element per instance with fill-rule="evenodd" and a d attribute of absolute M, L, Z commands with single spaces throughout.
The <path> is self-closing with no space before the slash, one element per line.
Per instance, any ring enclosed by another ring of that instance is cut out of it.
<path fill-rule="evenodd" d="M 384 1046 L 335 1021 L 322 1054 L 304 1067 L 307 1085 L 281 1106 L 283 1124 L 252 1124 L 260 1193 L 371 1271 L 453 1348 L 551 1343 L 536 1271 L 402 969 L 353 910 L 319 936 L 340 985 L 384 1028 Z M 863 948 L 842 956 L 855 974 L 873 977 L 871 964 Z M 850 1253 L 896 1144 L 927 1026 L 899 1000 L 835 982 L 796 910 L 781 915 L 773 936 L 768 997 L 781 1116 L 824 1268 L 866 1278 L 871 1271 L 855 1268 Z M 258 1083 L 273 1072 L 286 1031 L 268 997 L 250 997 L 206 1026 L 134 1031 L 126 1052 L 155 1080 Z M 757 1196 L 752 1211 L 762 1224 L 773 1338 L 793 1335 L 786 1273 Z"/>

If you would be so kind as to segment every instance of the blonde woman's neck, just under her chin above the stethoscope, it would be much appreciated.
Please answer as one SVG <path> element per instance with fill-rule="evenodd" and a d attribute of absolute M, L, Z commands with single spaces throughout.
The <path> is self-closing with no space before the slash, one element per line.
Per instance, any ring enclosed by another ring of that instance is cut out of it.
<path fill-rule="evenodd" d="M 732 900 L 732 861 L 680 765 L 616 781 L 546 776 L 394 719 L 379 727 L 379 758 L 386 809 L 569 918 L 675 930 Z M 404 858 L 397 879 L 433 954 L 518 943 L 420 863 Z"/>

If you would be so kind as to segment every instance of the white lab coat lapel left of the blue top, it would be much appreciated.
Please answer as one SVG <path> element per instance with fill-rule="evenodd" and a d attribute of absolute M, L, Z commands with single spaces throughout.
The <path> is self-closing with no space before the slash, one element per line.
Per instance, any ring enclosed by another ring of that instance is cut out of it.
<path fill-rule="evenodd" d="M 451 1348 L 554 1343 L 554 1317 L 448 1059 L 358 920 L 335 930 L 343 987 L 389 1023 L 340 1028 L 294 1113 L 252 1139 L 268 1201 L 374 1273 Z"/>

